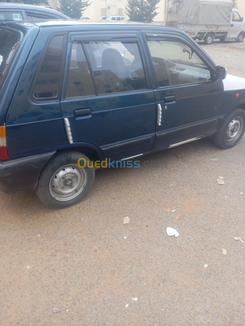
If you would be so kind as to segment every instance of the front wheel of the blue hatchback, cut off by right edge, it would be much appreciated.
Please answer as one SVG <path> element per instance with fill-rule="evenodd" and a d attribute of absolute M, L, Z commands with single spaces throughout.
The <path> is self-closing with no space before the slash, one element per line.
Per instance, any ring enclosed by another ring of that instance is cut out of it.
<path fill-rule="evenodd" d="M 239 132 L 238 126 L 240 126 Z M 218 147 L 224 149 L 232 148 L 238 143 L 238 141 L 240 141 L 244 131 L 245 111 L 242 109 L 235 109 L 227 115 L 220 129 L 213 135 L 213 141 Z M 232 134 L 234 135 L 234 138 L 231 137 Z"/>

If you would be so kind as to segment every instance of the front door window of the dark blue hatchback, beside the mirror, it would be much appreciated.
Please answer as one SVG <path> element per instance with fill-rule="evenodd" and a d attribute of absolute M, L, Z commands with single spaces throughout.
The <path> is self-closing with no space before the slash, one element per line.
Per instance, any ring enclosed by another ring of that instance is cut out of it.
<path fill-rule="evenodd" d="M 179 41 L 148 41 L 158 87 L 207 82 L 210 69 L 186 44 Z"/>

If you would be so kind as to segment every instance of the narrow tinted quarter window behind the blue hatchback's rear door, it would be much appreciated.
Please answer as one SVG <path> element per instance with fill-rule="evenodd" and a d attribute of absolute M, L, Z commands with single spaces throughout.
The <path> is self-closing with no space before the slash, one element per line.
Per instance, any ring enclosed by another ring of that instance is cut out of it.
<path fill-rule="evenodd" d="M 63 36 L 54 36 L 48 46 L 34 86 L 34 97 L 55 98 L 61 73 Z"/>

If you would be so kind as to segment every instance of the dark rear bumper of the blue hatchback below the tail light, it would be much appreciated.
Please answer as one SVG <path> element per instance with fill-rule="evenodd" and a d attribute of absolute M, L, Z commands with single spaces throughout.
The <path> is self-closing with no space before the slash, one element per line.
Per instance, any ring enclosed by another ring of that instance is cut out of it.
<path fill-rule="evenodd" d="M 0 163 L 0 190 L 7 194 L 34 190 L 37 178 L 56 151 Z"/>

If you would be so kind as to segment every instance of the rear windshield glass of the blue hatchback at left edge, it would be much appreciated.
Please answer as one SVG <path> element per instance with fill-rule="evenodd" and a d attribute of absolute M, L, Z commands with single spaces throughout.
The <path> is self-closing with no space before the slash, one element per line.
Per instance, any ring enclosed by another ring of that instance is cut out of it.
<path fill-rule="evenodd" d="M 0 29 L 0 82 L 20 41 L 20 35 Z"/>

